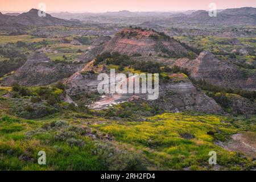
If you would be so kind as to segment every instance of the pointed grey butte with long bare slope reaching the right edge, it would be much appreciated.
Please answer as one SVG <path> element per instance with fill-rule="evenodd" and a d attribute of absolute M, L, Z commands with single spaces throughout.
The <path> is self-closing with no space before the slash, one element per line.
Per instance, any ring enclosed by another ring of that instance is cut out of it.
<path fill-rule="evenodd" d="M 255 75 L 245 77 L 236 65 L 218 60 L 207 51 L 201 52 L 195 60 L 178 59 L 172 65 L 187 68 L 191 72 L 191 77 L 196 80 L 206 80 L 222 87 L 256 90 Z"/>

